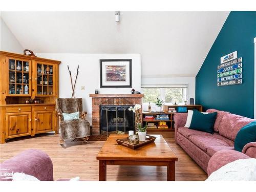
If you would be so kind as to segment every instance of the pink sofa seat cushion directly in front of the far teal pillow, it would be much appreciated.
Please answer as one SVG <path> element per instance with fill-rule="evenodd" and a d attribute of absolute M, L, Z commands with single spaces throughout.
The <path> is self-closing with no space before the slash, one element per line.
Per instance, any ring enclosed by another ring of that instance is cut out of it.
<path fill-rule="evenodd" d="M 192 135 L 188 139 L 199 148 L 201 148 L 201 150 L 203 150 L 204 152 L 207 152 L 207 148 L 211 146 L 229 146 L 226 141 L 222 140 L 221 138 L 216 138 L 214 135 Z"/>

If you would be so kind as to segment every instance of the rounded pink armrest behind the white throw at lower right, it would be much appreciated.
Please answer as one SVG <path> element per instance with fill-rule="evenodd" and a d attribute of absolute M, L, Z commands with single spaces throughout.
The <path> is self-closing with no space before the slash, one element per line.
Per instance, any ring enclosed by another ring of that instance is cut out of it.
<path fill-rule="evenodd" d="M 207 173 L 208 177 L 212 172 L 215 172 L 222 166 L 231 163 L 233 161 L 236 161 L 238 159 L 248 159 L 249 156 L 238 152 L 234 150 L 222 150 L 216 152 L 209 160 L 208 167 L 207 167 Z"/>

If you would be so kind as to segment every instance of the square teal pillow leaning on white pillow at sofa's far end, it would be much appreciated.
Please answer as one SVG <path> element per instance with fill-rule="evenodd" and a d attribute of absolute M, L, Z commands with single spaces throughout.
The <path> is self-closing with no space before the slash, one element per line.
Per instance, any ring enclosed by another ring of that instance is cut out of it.
<path fill-rule="evenodd" d="M 189 129 L 214 134 L 214 123 L 217 112 L 203 114 L 198 110 L 193 110 L 193 116 Z"/>

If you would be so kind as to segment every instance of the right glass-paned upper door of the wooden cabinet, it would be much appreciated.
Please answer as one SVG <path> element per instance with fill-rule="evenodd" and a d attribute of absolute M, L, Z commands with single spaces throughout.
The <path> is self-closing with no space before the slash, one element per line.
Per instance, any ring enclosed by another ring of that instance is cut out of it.
<path fill-rule="evenodd" d="M 37 63 L 37 92 L 39 96 L 54 95 L 54 66 L 45 63 Z"/>

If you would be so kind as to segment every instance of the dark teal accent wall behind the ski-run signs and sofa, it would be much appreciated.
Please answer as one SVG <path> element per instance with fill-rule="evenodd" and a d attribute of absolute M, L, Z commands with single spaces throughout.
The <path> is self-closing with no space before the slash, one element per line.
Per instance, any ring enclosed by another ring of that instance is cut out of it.
<path fill-rule="evenodd" d="M 231 11 L 196 76 L 196 103 L 253 118 L 256 11 Z M 242 84 L 217 87 L 220 57 L 238 51 L 243 57 Z"/>

